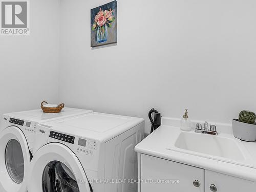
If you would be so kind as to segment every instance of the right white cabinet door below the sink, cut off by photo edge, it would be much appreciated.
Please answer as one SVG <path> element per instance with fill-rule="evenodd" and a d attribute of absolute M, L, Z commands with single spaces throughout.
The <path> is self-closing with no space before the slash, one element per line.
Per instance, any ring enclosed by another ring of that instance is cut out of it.
<path fill-rule="evenodd" d="M 256 183 L 205 170 L 205 192 L 255 192 Z"/>

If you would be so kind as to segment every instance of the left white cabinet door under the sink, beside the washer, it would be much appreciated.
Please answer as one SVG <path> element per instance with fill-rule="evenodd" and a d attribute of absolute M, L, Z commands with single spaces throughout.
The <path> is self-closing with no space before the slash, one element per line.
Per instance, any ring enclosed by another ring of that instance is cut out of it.
<path fill-rule="evenodd" d="M 140 191 L 204 192 L 204 169 L 141 154 Z"/>

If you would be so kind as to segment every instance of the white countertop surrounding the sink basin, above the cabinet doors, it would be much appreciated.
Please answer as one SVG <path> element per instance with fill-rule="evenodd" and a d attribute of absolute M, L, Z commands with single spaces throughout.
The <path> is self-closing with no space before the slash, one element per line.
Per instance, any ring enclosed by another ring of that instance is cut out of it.
<path fill-rule="evenodd" d="M 173 119 L 167 118 L 167 120 L 162 119 L 162 121 L 164 123 L 167 121 L 171 121 L 172 123 L 168 122 L 165 123 L 165 125 L 161 125 L 156 131 L 154 131 L 152 134 L 142 140 L 138 145 L 136 145 L 136 152 L 256 182 L 255 168 L 167 150 L 166 147 L 170 142 L 172 133 L 174 132 L 174 130 L 180 130 L 180 127 L 178 126 L 177 119 L 175 119 L 174 121 Z M 173 124 L 174 126 L 169 124 Z M 229 124 L 222 125 L 224 126 L 222 126 L 222 129 L 220 129 L 219 131 L 222 131 L 225 134 L 232 134 L 232 132 L 230 132 Z M 256 142 L 242 141 L 242 143 L 248 150 L 253 160 L 255 160 L 256 162 Z M 205 144 L 207 143 L 200 143 L 199 146 Z"/>

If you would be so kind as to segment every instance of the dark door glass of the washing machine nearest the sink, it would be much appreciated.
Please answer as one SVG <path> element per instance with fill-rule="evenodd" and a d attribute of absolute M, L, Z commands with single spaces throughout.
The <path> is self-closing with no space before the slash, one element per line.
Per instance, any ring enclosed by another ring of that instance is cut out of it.
<path fill-rule="evenodd" d="M 42 174 L 44 192 L 79 192 L 76 178 L 71 170 L 59 161 L 52 161 Z"/>

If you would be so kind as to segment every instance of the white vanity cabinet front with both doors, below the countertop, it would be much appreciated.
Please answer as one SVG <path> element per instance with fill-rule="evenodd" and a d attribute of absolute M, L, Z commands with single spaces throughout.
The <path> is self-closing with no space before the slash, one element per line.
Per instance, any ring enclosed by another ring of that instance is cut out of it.
<path fill-rule="evenodd" d="M 139 192 L 255 192 L 256 183 L 140 154 Z M 173 182 L 173 183 L 172 183 Z"/>

